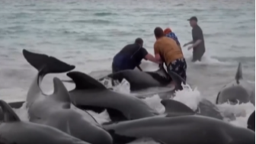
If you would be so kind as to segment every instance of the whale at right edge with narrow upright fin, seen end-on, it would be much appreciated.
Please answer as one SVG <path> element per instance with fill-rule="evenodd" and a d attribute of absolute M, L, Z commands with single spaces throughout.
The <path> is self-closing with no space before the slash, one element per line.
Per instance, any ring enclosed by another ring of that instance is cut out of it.
<path fill-rule="evenodd" d="M 223 104 L 228 101 L 231 104 L 248 103 L 251 101 L 255 105 L 255 88 L 243 79 L 241 62 L 238 64 L 235 81 L 225 85 L 219 91 L 216 98 L 216 104 Z"/>

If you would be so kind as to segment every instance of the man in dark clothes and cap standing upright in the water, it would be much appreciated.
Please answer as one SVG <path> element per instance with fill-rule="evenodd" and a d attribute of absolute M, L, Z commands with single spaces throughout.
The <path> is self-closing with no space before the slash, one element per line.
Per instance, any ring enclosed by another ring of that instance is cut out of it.
<path fill-rule="evenodd" d="M 192 37 L 193 40 L 185 43 L 184 46 L 187 46 L 189 44 L 193 44 L 192 46 L 189 46 L 187 50 L 193 49 L 193 59 L 192 62 L 201 61 L 201 58 L 203 54 L 205 53 L 205 46 L 204 46 L 204 40 L 203 40 L 203 30 L 199 25 L 197 24 L 197 17 L 191 17 L 187 21 L 190 21 L 190 26 L 192 28 Z"/>

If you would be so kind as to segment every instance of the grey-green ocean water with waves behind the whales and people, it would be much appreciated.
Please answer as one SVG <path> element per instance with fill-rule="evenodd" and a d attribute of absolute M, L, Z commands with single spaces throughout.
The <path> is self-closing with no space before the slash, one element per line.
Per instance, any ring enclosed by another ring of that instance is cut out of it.
<path fill-rule="evenodd" d="M 192 63 L 192 52 L 183 48 L 192 90 L 180 95 L 187 101 L 196 101 L 196 94 L 214 102 L 219 89 L 234 79 L 238 62 L 243 77 L 254 85 L 254 6 L 254 0 L 0 0 L 0 98 L 24 100 L 37 73 L 22 56 L 23 49 L 55 56 L 97 77 L 110 72 L 114 54 L 137 37 L 152 53 L 155 27 L 171 27 L 182 45 L 192 40 L 187 19 L 197 16 L 206 53 L 202 62 Z M 151 62 L 142 65 L 156 69 Z M 53 89 L 53 76 L 66 78 L 47 75 L 43 91 Z M 239 107 L 246 110 L 246 117 L 254 110 L 250 104 Z M 233 123 L 245 126 L 246 117 Z"/>

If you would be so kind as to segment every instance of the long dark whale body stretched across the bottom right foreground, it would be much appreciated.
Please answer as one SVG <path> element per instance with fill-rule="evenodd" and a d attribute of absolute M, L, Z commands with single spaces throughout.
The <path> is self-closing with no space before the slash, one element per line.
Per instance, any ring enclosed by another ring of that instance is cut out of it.
<path fill-rule="evenodd" d="M 152 138 L 164 144 L 254 144 L 255 133 L 211 117 L 186 113 L 104 124 L 114 143 Z"/>

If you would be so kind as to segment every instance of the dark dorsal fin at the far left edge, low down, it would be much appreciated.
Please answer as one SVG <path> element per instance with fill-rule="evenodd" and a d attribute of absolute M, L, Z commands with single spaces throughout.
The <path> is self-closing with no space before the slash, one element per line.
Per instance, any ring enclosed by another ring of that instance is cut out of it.
<path fill-rule="evenodd" d="M 5 122 L 21 121 L 18 115 L 15 114 L 14 110 L 11 109 L 11 106 L 5 101 L 0 100 L 0 107 L 2 107 Z"/>

